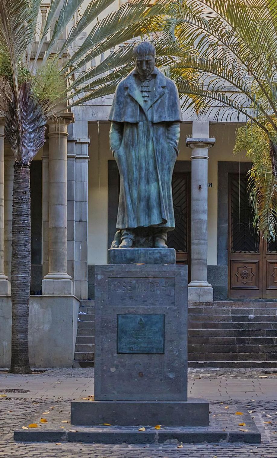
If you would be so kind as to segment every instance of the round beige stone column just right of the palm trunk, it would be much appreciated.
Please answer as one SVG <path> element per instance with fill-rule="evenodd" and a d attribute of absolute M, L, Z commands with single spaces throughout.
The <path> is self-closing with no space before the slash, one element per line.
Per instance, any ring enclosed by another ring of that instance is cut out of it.
<path fill-rule="evenodd" d="M 67 273 L 67 126 L 73 121 L 65 113 L 49 125 L 49 227 L 48 274 L 43 294 L 71 295 L 73 284 Z"/>

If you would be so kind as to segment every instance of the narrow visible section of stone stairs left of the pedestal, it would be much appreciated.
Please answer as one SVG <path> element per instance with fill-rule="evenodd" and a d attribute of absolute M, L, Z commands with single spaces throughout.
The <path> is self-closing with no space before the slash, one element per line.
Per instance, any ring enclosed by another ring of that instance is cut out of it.
<path fill-rule="evenodd" d="M 95 306 L 94 300 L 81 300 L 73 367 L 94 366 Z"/>

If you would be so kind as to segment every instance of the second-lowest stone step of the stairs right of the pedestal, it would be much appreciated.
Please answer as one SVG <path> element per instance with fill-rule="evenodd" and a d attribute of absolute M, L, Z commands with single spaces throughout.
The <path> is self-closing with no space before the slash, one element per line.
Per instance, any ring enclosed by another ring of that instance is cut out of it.
<path fill-rule="evenodd" d="M 276 353 L 189 353 L 189 361 L 277 361 Z"/>

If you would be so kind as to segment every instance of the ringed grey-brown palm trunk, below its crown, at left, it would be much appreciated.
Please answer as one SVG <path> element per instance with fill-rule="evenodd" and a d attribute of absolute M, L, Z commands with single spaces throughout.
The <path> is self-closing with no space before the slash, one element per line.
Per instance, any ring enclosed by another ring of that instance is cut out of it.
<path fill-rule="evenodd" d="M 12 373 L 30 373 L 28 324 L 31 284 L 31 194 L 30 165 L 14 166 L 11 254 L 11 368 Z"/>

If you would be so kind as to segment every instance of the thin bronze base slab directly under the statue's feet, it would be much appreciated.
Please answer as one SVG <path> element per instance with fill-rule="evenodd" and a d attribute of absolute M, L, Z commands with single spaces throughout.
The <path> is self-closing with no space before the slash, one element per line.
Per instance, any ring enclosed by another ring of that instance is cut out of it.
<path fill-rule="evenodd" d="M 108 264 L 176 264 L 174 248 L 110 248 Z"/>

